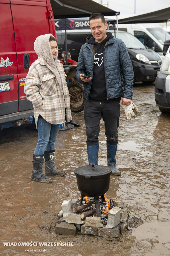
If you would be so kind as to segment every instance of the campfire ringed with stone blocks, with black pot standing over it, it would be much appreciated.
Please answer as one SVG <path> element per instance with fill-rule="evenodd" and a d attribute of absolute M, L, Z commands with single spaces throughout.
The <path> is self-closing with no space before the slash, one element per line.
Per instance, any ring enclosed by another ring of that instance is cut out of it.
<path fill-rule="evenodd" d="M 79 229 L 82 234 L 119 237 L 127 225 L 128 212 L 121 201 L 106 197 L 111 172 L 107 166 L 94 164 L 74 170 L 81 199 L 62 203 L 56 233 L 75 235 Z"/>

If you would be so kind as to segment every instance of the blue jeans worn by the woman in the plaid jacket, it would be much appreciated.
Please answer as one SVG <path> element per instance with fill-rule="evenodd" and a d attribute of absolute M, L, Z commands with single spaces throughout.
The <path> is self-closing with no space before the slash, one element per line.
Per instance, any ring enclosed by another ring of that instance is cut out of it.
<path fill-rule="evenodd" d="M 44 151 L 54 150 L 59 127 L 59 124 L 50 124 L 45 119 L 38 118 L 38 143 L 34 155 L 40 156 Z"/>

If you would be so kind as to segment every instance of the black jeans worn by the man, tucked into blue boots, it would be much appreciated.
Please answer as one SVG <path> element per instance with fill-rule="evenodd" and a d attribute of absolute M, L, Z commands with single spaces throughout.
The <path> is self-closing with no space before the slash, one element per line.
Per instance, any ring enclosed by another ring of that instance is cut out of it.
<path fill-rule="evenodd" d="M 100 119 L 105 123 L 106 143 L 118 144 L 120 99 L 114 102 L 85 101 L 84 120 L 86 124 L 87 146 L 99 144 Z"/>

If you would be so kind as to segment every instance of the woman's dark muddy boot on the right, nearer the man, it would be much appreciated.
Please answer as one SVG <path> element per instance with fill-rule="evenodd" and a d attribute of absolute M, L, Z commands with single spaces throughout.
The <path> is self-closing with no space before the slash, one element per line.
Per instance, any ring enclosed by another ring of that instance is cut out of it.
<path fill-rule="evenodd" d="M 66 174 L 65 171 L 59 170 L 55 164 L 55 150 L 45 151 L 45 174 L 48 176 L 64 176 Z"/>

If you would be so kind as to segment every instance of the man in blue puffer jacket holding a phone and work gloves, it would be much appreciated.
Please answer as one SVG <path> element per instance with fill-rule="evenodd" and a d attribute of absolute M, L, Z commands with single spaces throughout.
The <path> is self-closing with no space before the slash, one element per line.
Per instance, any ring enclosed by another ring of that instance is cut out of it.
<path fill-rule="evenodd" d="M 130 105 L 133 95 L 133 67 L 124 42 L 106 32 L 101 13 L 89 17 L 93 37 L 81 47 L 76 69 L 77 80 L 84 82 L 84 120 L 89 164 L 98 164 L 100 119 L 105 122 L 107 162 L 115 176 L 120 105 Z M 83 77 L 83 75 L 88 78 Z M 123 88 L 123 79 L 125 87 Z M 122 97 L 122 98 L 121 98 Z"/>

